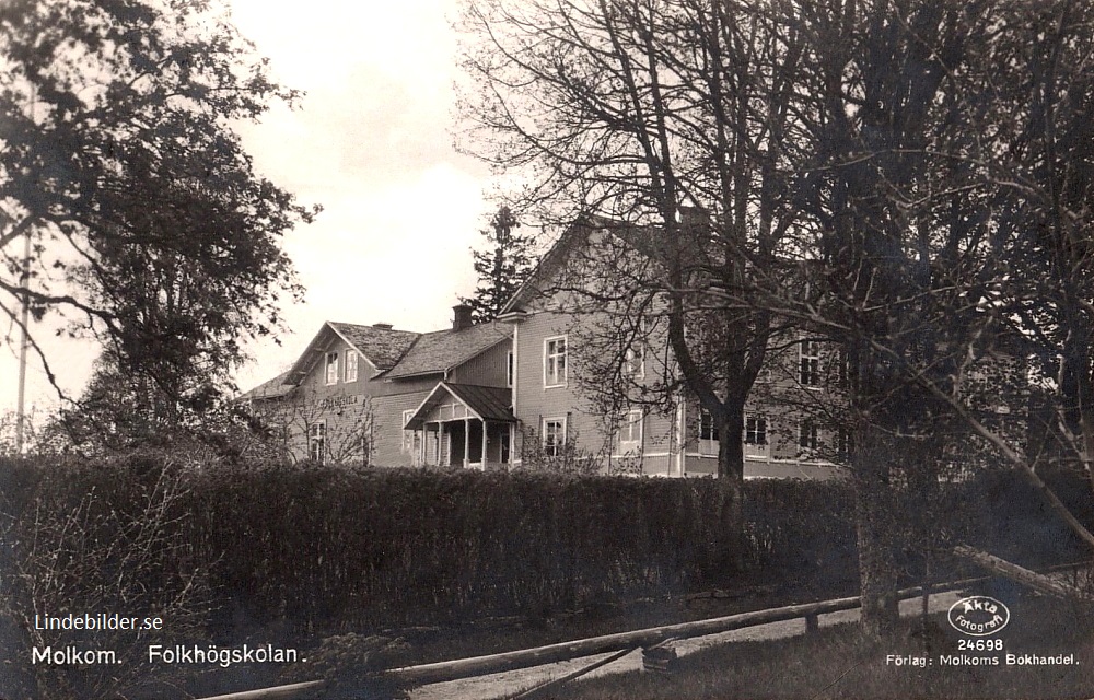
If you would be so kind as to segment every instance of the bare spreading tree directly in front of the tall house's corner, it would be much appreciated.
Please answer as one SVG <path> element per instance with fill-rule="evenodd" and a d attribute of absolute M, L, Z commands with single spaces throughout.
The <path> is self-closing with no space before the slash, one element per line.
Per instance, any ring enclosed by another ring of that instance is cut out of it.
<path fill-rule="evenodd" d="M 796 40 L 752 3 L 709 0 L 484 0 L 462 27 L 463 147 L 520 173 L 522 210 L 607 232 L 591 253 L 571 247 L 570 279 L 543 290 L 598 315 L 601 361 L 578 373 L 602 398 L 661 410 L 697 397 L 740 515 L 744 401 L 775 322 L 711 292 L 777 281 Z M 656 332 L 672 359 L 633 382 L 620 368 Z"/>

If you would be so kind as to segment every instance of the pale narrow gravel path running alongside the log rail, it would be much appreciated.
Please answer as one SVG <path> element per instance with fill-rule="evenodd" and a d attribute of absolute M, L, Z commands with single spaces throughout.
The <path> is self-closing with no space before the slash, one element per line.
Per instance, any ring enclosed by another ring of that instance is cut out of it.
<path fill-rule="evenodd" d="M 953 605 L 959 597 L 959 594 L 956 592 L 932 595 L 930 609 L 932 612 L 947 610 L 950 609 L 950 606 Z M 900 615 L 905 617 L 917 615 L 922 609 L 921 605 L 921 598 L 909 598 L 907 600 L 903 600 L 900 603 Z M 819 622 L 822 627 L 828 627 L 840 622 L 854 622 L 858 619 L 859 610 L 853 609 L 822 615 L 819 617 Z M 785 620 L 782 622 L 770 622 L 767 625 L 757 625 L 756 627 L 732 630 L 730 632 L 710 634 L 707 637 L 695 637 L 674 642 L 673 646 L 676 649 L 676 653 L 679 656 L 685 656 L 697 652 L 700 649 L 715 644 L 782 639 L 804 633 L 805 620 L 796 619 Z M 565 676 L 568 673 L 589 666 L 590 664 L 610 655 L 612 654 L 600 654 L 596 656 L 585 656 L 583 658 L 574 658 L 545 666 L 534 666 L 532 668 L 508 670 L 500 674 L 491 674 L 489 676 L 478 676 L 476 678 L 463 678 L 461 680 L 433 684 L 430 686 L 423 686 L 414 691 L 410 698 L 411 700 L 492 700 L 497 698 L 507 698 L 520 692 L 521 690 L 546 682 L 551 678 L 558 678 L 559 676 Z M 635 651 L 627 654 L 622 658 L 608 664 L 607 666 L 597 668 L 585 676 L 585 678 L 639 670 L 641 668 L 642 654 L 640 651 Z"/>

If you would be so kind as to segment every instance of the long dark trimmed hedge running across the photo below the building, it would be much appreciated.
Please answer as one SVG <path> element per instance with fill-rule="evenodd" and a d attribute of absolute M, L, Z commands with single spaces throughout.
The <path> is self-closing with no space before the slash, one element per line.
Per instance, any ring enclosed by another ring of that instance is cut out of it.
<path fill-rule="evenodd" d="M 49 525 L 43 518 L 50 513 L 71 521 L 73 511 L 63 503 L 95 509 L 89 512 L 103 516 L 81 546 L 110 544 L 109 556 L 119 557 L 118 537 L 104 528 L 116 523 L 141 532 L 132 523 L 162 501 L 156 539 L 140 540 L 143 551 L 158 552 L 143 560 L 147 567 L 162 571 L 142 571 L 142 585 L 170 591 L 199 573 L 220 610 L 214 634 L 218 628 L 238 634 L 246 622 L 353 631 L 485 615 L 546 616 L 592 603 L 755 584 L 828 592 L 853 586 L 857 578 L 846 482 L 746 482 L 742 569 L 728 559 L 730 534 L 720 525 L 728 491 L 713 479 L 317 465 L 179 470 L 150 458 L 0 467 L 7 475 L 0 482 L 10 544 L 4 551 L 18 561 L 26 561 L 31 541 L 26 504 L 39 504 L 33 511 L 39 527 Z M 156 491 L 167 483 L 166 472 L 170 499 Z M 92 491 L 102 505 L 90 500 Z M 1081 491 L 1068 491 L 1080 505 Z M 133 503 L 144 503 L 144 511 Z M 956 541 L 1020 560 L 1031 544 L 1040 559 L 1066 553 L 1058 546 L 1068 541 L 1066 534 L 1012 475 L 987 474 L 947 490 L 944 503 L 915 508 L 930 508 L 923 518 L 930 522 L 904 538 L 915 545 L 901 560 L 912 581 L 923 551 Z M 61 532 L 69 521 L 58 520 L 48 532 Z M 159 552 L 151 541 L 171 547 Z M 48 562 L 47 555 L 35 551 L 35 565 Z M 104 571 L 113 561 L 103 559 Z M 150 598 L 149 605 L 163 604 Z M 205 605 L 202 599 L 199 607 Z"/>

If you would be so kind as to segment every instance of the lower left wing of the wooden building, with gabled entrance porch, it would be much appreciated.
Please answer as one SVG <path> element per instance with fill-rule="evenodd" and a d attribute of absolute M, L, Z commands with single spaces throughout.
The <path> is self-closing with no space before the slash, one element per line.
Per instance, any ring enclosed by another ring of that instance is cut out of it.
<path fill-rule="evenodd" d="M 510 462 L 511 330 L 325 323 L 284 374 L 241 398 L 292 460 L 382 466 L 500 466 Z"/>

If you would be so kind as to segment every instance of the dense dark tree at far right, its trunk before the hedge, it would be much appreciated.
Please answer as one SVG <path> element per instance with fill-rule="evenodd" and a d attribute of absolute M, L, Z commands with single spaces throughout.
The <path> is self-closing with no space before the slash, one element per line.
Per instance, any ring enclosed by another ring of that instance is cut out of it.
<path fill-rule="evenodd" d="M 1063 358 L 1072 424 L 1089 400 L 1090 10 L 878 0 L 778 11 L 808 37 L 795 189 L 819 293 L 771 307 L 847 353 L 863 620 L 882 634 L 896 615 L 893 485 L 943 458 L 936 443 L 926 459 L 894 455 L 922 454 L 942 422 L 978 435 L 1094 545 L 968 394 L 985 358 L 1035 348 Z"/>

